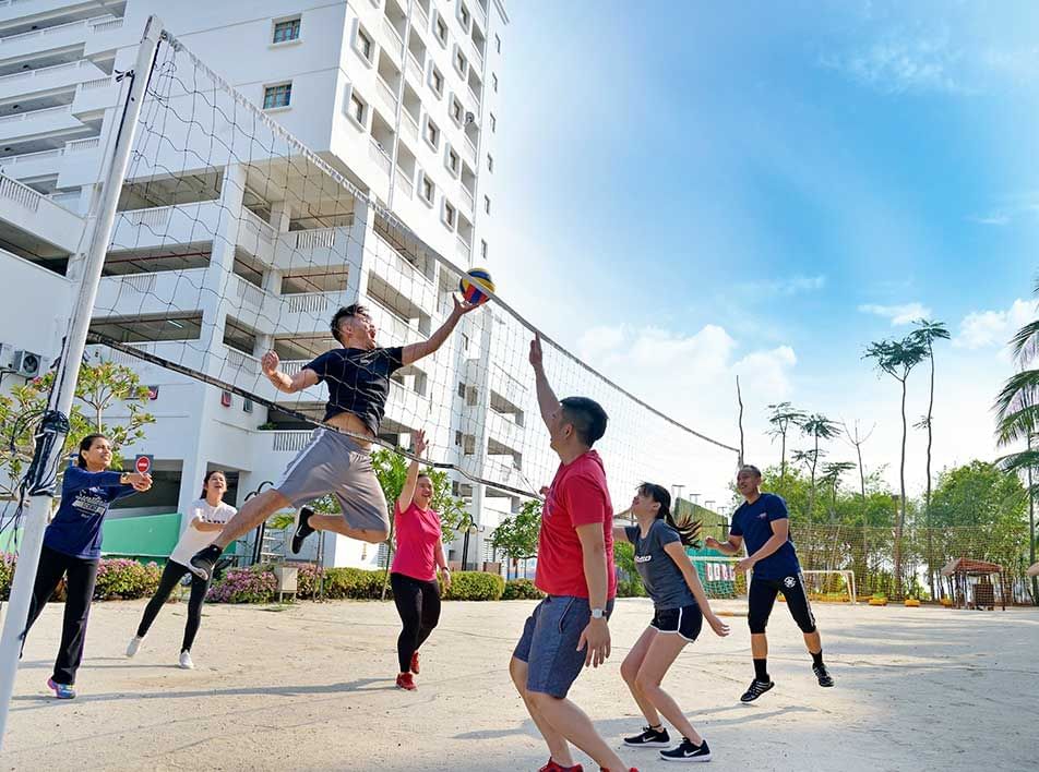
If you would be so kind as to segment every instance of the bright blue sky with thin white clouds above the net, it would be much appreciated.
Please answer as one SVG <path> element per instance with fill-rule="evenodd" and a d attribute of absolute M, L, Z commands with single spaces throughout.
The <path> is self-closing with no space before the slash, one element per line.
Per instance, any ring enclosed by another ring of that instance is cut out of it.
<path fill-rule="evenodd" d="M 873 468 L 897 461 L 897 391 L 862 350 L 925 314 L 954 334 L 938 466 L 995 455 L 1039 268 L 1039 5 L 509 10 L 490 267 L 521 312 L 727 439 L 740 374 L 764 462 L 771 401 L 875 422 Z M 915 435 L 918 485 L 921 454 Z"/>

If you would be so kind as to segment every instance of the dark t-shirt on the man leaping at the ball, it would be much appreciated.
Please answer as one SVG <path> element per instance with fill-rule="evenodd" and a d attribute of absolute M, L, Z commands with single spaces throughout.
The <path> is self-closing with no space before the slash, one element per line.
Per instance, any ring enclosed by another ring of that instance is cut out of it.
<path fill-rule="evenodd" d="M 372 434 L 386 412 L 390 376 L 404 366 L 404 349 L 333 349 L 325 351 L 304 370 L 312 370 L 329 386 L 324 420 L 339 413 L 354 413 Z"/>

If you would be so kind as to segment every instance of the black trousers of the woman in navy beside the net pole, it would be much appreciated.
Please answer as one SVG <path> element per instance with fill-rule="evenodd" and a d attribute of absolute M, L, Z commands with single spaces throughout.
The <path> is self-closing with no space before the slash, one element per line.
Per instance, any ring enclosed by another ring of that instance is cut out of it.
<path fill-rule="evenodd" d="M 55 594 L 61 577 L 65 577 L 61 643 L 58 646 L 58 659 L 55 660 L 55 673 L 51 676 L 56 684 L 75 684 L 75 672 L 80 670 L 80 663 L 83 661 L 86 620 L 91 615 L 91 600 L 94 598 L 94 583 L 97 581 L 97 558 L 72 557 L 51 550 L 46 544 L 39 554 L 39 567 L 36 569 L 36 583 L 33 587 L 25 632 L 28 632 L 47 601 Z M 25 644 L 24 637 L 22 644 Z"/>

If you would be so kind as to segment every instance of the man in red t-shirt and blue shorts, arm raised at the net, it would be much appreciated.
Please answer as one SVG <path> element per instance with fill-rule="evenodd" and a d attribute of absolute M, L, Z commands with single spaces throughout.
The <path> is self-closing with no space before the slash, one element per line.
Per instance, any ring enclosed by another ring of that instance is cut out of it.
<path fill-rule="evenodd" d="M 604 770 L 621 772 L 628 768 L 592 720 L 566 699 L 582 667 L 598 667 L 610 655 L 608 619 L 617 594 L 613 507 L 602 460 L 592 449 L 606 433 L 607 415 L 587 397 L 556 398 L 537 338 L 530 343 L 530 364 L 541 419 L 560 465 L 541 511 L 534 580 L 547 598 L 524 625 L 509 673 L 551 753 L 540 772 L 580 772 L 571 743 Z"/>

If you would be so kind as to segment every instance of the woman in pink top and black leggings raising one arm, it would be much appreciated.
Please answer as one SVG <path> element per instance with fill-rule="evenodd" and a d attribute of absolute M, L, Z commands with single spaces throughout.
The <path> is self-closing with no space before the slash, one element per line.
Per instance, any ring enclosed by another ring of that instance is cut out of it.
<path fill-rule="evenodd" d="M 426 450 L 426 433 L 421 430 L 411 433 L 411 448 L 419 457 Z M 416 688 L 411 675 L 418 675 L 418 648 L 440 620 L 438 566 L 444 589 L 451 587 L 451 572 L 441 544 L 440 515 L 429 508 L 432 497 L 433 481 L 428 474 L 419 474 L 418 461 L 411 461 L 401 497 L 393 507 L 397 550 L 390 568 L 393 602 L 404 625 L 397 638 L 401 661 L 397 687 L 401 689 Z"/>

